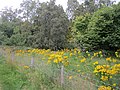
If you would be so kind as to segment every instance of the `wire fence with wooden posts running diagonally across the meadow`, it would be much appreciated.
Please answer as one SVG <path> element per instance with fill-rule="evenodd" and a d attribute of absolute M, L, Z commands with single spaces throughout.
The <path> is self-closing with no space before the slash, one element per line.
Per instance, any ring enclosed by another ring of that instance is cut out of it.
<path fill-rule="evenodd" d="M 87 68 L 90 73 L 82 74 L 68 70 L 62 65 L 59 68 L 55 68 L 52 65 L 46 64 L 39 56 L 16 56 L 13 50 L 8 50 L 6 52 L 5 48 L 0 48 L 0 56 L 1 55 L 9 61 L 17 63 L 21 67 L 27 65 L 34 68 L 36 71 L 44 73 L 51 79 L 50 81 L 62 87 L 63 90 L 97 90 L 97 88 L 100 87 L 99 83 L 111 86 L 103 81 L 94 79 L 92 74 L 90 74 L 91 70 L 87 66 L 85 68 Z M 120 87 L 115 87 L 115 90 L 120 90 Z"/>

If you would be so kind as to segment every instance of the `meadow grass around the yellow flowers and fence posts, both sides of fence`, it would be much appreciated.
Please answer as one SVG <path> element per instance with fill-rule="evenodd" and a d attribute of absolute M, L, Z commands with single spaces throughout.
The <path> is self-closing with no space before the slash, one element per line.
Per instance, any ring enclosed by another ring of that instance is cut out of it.
<path fill-rule="evenodd" d="M 69 54 L 70 52 L 65 52 L 66 56 Z M 30 66 L 33 56 L 34 67 L 25 69 L 24 66 Z M 81 56 L 86 57 L 83 63 L 80 62 L 83 58 Z M 47 56 L 28 53 L 14 55 L 12 62 L 11 53 L 7 53 L 6 58 L 0 58 L 0 87 L 3 90 L 97 90 L 97 85 L 101 86 L 101 83 L 96 82 L 100 79 L 93 74 L 95 68 L 93 63 L 95 61 L 100 65 L 109 63 L 105 60 L 106 57 L 98 55 L 91 60 L 91 56 L 80 53 L 68 58 L 69 65 L 64 67 L 64 85 L 61 87 L 60 64 L 47 64 Z M 72 76 L 72 79 L 69 80 L 69 76 Z M 114 81 L 117 81 L 116 78 Z"/>

